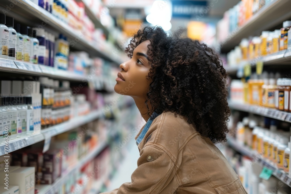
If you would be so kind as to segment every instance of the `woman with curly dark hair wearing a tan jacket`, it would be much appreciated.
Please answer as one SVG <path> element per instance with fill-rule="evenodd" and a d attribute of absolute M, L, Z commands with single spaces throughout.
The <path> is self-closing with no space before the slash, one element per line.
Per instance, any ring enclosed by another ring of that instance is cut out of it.
<path fill-rule="evenodd" d="M 114 90 L 133 97 L 147 123 L 132 181 L 107 194 L 247 193 L 214 145 L 228 132 L 226 71 L 210 47 L 181 34 L 145 27 L 126 48 Z"/>

